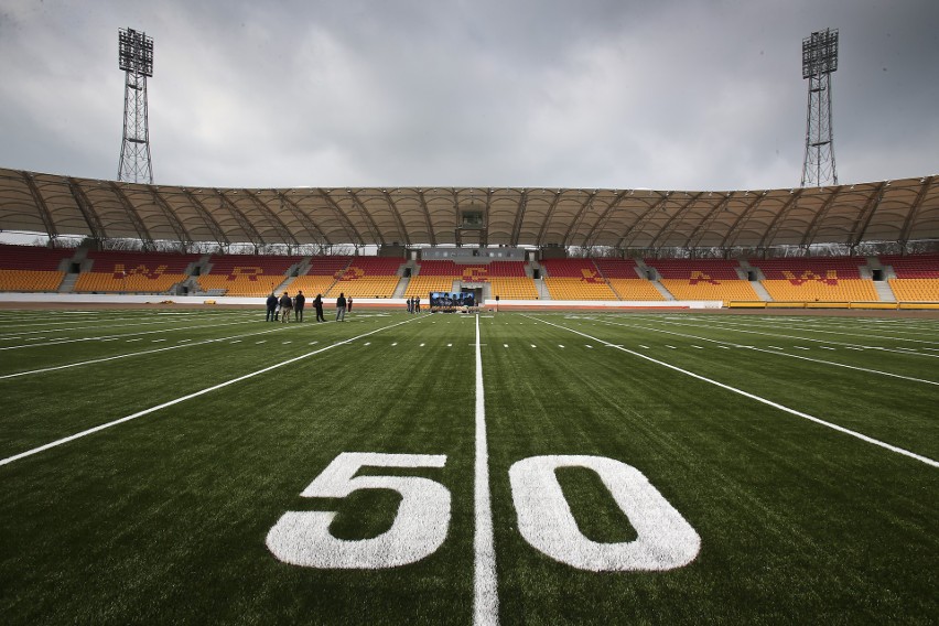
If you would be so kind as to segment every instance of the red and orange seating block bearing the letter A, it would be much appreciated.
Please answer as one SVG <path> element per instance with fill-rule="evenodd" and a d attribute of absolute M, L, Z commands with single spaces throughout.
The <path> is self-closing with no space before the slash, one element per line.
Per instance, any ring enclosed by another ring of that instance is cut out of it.
<path fill-rule="evenodd" d="M 762 300 L 728 259 L 645 259 L 677 300 Z"/>

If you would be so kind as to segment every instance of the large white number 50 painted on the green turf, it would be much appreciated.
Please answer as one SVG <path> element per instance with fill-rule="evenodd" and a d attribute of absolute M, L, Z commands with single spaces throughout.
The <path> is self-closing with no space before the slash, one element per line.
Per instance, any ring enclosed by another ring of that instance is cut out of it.
<path fill-rule="evenodd" d="M 356 489 L 398 492 L 401 505 L 382 535 L 348 541 L 330 533 L 334 511 L 288 511 L 268 532 L 268 549 L 283 562 L 321 569 L 396 568 L 435 552 L 450 526 L 450 492 L 418 476 L 355 476 L 361 467 L 443 467 L 429 454 L 344 452 L 301 493 L 307 498 L 344 498 Z M 600 543 L 584 537 L 558 483 L 558 467 L 595 472 L 637 538 Z M 532 456 L 509 470 L 521 536 L 536 550 L 581 570 L 661 571 L 687 565 L 701 539 L 635 467 L 602 456 Z"/>

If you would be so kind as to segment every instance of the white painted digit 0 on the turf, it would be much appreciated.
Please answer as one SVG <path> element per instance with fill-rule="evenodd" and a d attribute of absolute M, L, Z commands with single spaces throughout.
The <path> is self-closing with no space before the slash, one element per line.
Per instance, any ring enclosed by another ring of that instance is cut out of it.
<path fill-rule="evenodd" d="M 598 543 L 584 537 L 554 471 L 596 472 L 638 535 L 634 541 Z M 521 536 L 548 557 L 593 572 L 662 571 L 694 560 L 701 538 L 641 472 L 602 456 L 533 456 L 509 470 Z"/>

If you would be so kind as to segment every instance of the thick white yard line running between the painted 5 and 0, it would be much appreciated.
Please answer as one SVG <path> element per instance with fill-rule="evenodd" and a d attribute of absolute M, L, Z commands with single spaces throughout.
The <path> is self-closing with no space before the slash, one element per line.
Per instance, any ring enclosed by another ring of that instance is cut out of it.
<path fill-rule="evenodd" d="M 483 388 L 483 352 L 479 349 L 479 316 L 476 315 L 476 482 L 474 503 L 476 528 L 473 535 L 473 624 L 499 623 L 496 586 L 496 550 L 493 542 L 493 508 L 489 495 L 489 451 L 486 441 L 486 398 Z"/>

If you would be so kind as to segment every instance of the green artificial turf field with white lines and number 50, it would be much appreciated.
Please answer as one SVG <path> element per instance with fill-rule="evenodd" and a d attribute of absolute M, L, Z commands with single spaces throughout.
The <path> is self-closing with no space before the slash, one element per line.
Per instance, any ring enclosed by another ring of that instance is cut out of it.
<path fill-rule="evenodd" d="M 939 320 L 262 317 L 0 312 L 3 624 L 939 622 Z"/>

